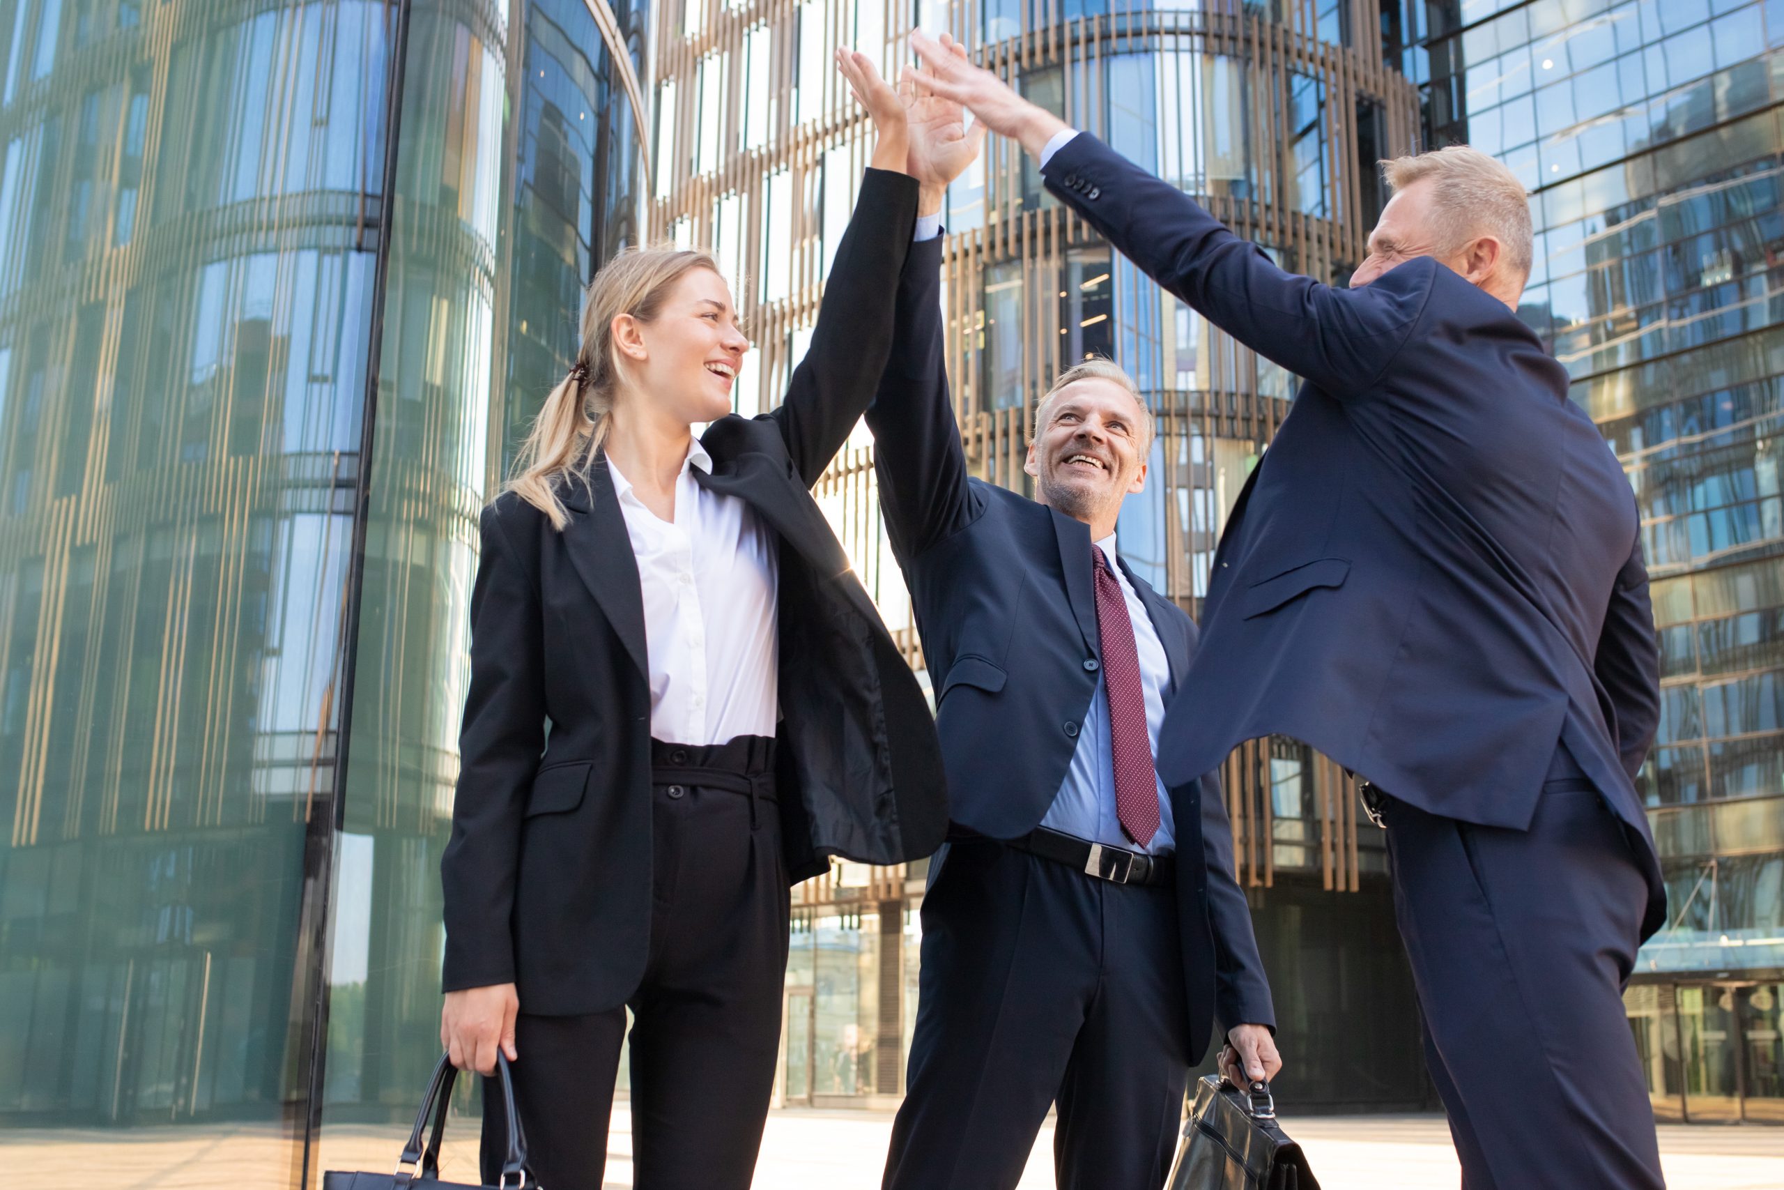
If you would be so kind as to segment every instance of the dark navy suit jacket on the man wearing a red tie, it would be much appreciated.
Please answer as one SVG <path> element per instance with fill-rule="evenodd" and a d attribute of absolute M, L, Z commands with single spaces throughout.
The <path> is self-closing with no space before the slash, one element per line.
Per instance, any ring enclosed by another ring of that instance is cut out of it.
<path fill-rule="evenodd" d="M 1040 826 L 1095 698 L 1101 635 L 1090 526 L 967 476 L 942 362 L 942 241 L 913 244 L 899 278 L 897 339 L 867 410 L 880 500 L 910 583 L 937 690 L 949 817 L 992 839 Z M 1170 662 L 1190 667 L 1195 624 L 1126 566 Z M 1211 1019 L 1272 1024 L 1233 830 L 1213 773 L 1170 787 L 1190 1044 Z M 947 865 L 937 881 L 947 880 Z"/>

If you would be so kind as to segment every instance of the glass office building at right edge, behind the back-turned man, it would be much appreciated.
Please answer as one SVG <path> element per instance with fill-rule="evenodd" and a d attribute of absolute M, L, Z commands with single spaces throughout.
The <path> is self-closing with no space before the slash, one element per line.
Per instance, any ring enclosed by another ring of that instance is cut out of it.
<path fill-rule="evenodd" d="M 1433 0 L 1431 143 L 1531 189 L 1522 314 L 1643 517 L 1670 928 L 1627 996 L 1661 1119 L 1784 1122 L 1784 7 Z"/>

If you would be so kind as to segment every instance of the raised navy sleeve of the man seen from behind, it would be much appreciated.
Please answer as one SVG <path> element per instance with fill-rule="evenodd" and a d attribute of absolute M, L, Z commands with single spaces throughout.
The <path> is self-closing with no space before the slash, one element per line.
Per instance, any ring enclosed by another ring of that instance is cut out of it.
<path fill-rule="evenodd" d="M 1374 387 L 1431 293 L 1431 260 L 1404 262 L 1359 289 L 1286 273 L 1176 186 L 1088 132 L 1060 148 L 1042 173 L 1047 189 L 1147 277 L 1258 355 L 1336 398 Z"/>

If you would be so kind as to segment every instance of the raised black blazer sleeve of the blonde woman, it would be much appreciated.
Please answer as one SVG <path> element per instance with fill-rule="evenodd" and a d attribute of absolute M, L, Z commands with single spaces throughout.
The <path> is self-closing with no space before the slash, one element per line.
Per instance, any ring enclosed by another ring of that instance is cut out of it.
<path fill-rule="evenodd" d="M 765 414 L 780 425 L 806 487 L 824 475 L 874 398 L 892 351 L 892 278 L 915 228 L 917 178 L 869 169 L 824 282 L 812 346 L 780 409 Z"/>

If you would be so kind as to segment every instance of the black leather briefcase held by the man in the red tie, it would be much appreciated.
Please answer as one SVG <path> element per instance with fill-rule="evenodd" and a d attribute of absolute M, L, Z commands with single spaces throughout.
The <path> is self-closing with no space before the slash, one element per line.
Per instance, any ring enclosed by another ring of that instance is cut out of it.
<path fill-rule="evenodd" d="M 1204 1076 L 1183 1122 L 1167 1190 L 1320 1190 L 1301 1145 L 1276 1124 L 1268 1083 L 1240 1092 Z"/>

